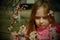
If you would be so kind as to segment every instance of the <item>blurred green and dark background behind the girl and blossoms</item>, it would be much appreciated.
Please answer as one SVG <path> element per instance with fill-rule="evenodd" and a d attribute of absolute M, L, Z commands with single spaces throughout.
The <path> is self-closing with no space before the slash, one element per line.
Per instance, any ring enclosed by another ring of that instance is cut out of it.
<path fill-rule="evenodd" d="M 8 27 L 13 26 L 11 31 L 18 32 L 21 25 L 28 26 L 31 9 L 35 1 L 36 0 L 0 0 L 0 40 L 10 40 L 10 31 Z M 48 1 L 52 5 L 56 23 L 60 25 L 60 1 Z M 20 10 L 16 9 L 18 7 Z M 18 12 L 18 17 L 14 20 L 12 15 L 14 15 L 16 11 Z"/>

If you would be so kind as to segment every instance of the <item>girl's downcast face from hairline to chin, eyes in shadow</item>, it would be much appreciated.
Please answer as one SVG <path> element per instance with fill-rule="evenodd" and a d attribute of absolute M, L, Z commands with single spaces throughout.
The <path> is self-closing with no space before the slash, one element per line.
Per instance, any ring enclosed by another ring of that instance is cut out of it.
<path fill-rule="evenodd" d="M 35 15 L 35 23 L 38 27 L 46 27 L 49 25 L 49 20 L 48 20 L 48 12 L 47 9 L 44 7 L 40 7 Z"/>

